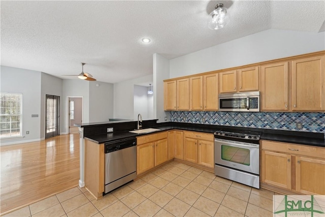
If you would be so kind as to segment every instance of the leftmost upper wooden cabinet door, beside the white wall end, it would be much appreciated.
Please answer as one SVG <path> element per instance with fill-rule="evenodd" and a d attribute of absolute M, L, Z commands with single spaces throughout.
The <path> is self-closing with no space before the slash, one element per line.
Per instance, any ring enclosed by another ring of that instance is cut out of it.
<path fill-rule="evenodd" d="M 164 109 L 176 110 L 176 81 L 164 82 Z"/>

